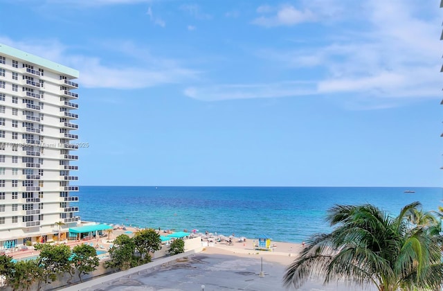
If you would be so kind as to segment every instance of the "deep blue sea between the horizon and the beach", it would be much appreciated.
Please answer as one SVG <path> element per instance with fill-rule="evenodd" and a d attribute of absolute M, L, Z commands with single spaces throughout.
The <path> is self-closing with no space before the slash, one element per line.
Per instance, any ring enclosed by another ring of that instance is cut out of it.
<path fill-rule="evenodd" d="M 370 203 L 397 215 L 414 201 L 437 210 L 442 195 L 442 188 L 81 186 L 78 206 L 83 221 L 300 243 L 330 230 L 324 219 L 334 204 Z"/>

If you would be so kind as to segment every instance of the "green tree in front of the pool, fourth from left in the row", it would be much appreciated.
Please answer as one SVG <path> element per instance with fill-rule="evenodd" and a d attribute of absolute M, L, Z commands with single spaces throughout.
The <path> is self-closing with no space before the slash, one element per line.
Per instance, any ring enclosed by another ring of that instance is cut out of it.
<path fill-rule="evenodd" d="M 72 262 L 75 269 L 78 270 L 78 279 L 80 281 L 82 281 L 83 274 L 89 274 L 97 270 L 98 265 L 100 265 L 96 249 L 84 244 L 76 245 L 73 248 Z"/>

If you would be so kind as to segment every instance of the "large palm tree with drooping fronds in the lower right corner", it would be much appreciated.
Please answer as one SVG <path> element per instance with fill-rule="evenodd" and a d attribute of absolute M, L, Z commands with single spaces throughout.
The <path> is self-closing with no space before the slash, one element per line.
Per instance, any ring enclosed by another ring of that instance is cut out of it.
<path fill-rule="evenodd" d="M 437 290 L 443 282 L 442 236 L 424 226 L 410 227 L 406 215 L 421 206 L 413 202 L 396 218 L 375 206 L 336 205 L 327 221 L 331 233 L 312 236 L 283 277 L 286 287 L 300 288 L 310 276 L 324 283 L 347 280 L 379 291 Z"/>

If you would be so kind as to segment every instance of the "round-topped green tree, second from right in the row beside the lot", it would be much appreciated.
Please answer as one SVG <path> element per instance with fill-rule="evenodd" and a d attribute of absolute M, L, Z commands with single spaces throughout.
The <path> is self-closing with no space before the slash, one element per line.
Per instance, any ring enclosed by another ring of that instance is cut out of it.
<path fill-rule="evenodd" d="M 151 261 L 150 253 L 161 249 L 161 239 L 159 233 L 154 229 L 142 229 L 137 231 L 134 236 L 136 249 L 141 256 L 141 262 Z"/>

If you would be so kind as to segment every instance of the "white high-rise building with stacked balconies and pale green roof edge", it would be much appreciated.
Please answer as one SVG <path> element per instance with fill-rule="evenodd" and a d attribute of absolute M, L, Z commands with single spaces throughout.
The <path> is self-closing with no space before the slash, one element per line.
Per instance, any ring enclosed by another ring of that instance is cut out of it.
<path fill-rule="evenodd" d="M 0 249 L 66 238 L 75 214 L 78 71 L 0 44 Z"/>

